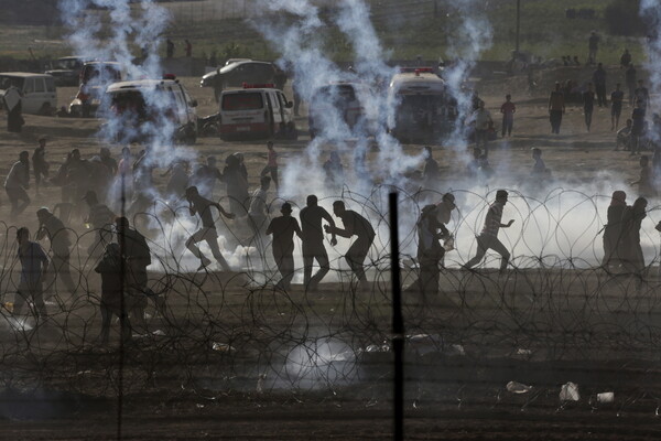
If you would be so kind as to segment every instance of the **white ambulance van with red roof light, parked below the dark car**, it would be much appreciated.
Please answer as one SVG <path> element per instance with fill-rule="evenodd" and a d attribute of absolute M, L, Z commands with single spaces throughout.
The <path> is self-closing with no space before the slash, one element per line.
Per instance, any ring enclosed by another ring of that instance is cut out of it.
<path fill-rule="evenodd" d="M 297 139 L 292 107 L 272 84 L 223 90 L 218 132 L 223 139 Z"/>

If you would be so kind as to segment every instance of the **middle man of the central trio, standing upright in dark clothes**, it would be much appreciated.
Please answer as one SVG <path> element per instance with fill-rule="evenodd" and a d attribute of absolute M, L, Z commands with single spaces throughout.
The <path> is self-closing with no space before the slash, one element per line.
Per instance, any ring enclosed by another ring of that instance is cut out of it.
<path fill-rule="evenodd" d="M 328 265 L 328 254 L 324 247 L 324 230 L 322 220 L 326 220 L 330 226 L 335 226 L 335 220 L 324 208 L 317 205 L 317 197 L 314 194 L 307 196 L 307 206 L 301 209 L 301 227 L 303 234 L 303 284 L 305 289 L 316 290 L 317 286 L 330 270 Z M 330 238 L 330 245 L 337 245 L 335 235 Z M 316 259 L 319 270 L 312 276 L 312 263 Z"/>

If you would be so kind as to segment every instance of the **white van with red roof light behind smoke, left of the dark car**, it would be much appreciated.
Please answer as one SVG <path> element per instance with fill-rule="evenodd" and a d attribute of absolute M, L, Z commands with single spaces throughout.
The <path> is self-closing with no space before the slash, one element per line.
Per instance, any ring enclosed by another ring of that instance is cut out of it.
<path fill-rule="evenodd" d="M 113 83 L 106 90 L 107 135 L 118 142 L 165 137 L 194 143 L 197 138 L 197 100 L 174 75 L 163 79 Z M 171 132 L 166 132 L 170 130 Z"/>

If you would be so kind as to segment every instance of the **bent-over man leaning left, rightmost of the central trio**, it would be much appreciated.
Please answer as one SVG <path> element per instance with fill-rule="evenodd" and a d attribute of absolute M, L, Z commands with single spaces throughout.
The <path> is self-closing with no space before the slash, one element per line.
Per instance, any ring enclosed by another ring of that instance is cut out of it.
<path fill-rule="evenodd" d="M 351 245 L 345 256 L 347 263 L 351 268 L 351 271 L 358 278 L 362 289 L 369 288 L 367 278 L 365 277 L 365 269 L 362 263 L 369 252 L 369 248 L 375 241 L 375 229 L 370 225 L 369 220 L 360 216 L 358 213 L 346 209 L 344 202 L 335 201 L 333 203 L 333 213 L 336 217 L 342 219 L 344 229 L 336 226 L 326 225 L 324 229 L 326 233 L 336 234 L 347 239 L 351 236 L 357 236 L 356 241 Z"/>

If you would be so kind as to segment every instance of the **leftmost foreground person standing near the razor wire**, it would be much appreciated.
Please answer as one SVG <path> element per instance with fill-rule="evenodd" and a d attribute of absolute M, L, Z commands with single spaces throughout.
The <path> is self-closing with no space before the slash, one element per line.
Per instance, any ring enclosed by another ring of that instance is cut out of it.
<path fill-rule="evenodd" d="M 42 247 L 30 240 L 30 230 L 21 227 L 17 232 L 19 243 L 18 257 L 21 261 L 21 279 L 14 299 L 14 313 L 19 314 L 25 301 L 32 302 L 35 315 L 46 315 L 46 304 L 43 298 L 43 277 L 48 269 L 48 257 Z"/>

